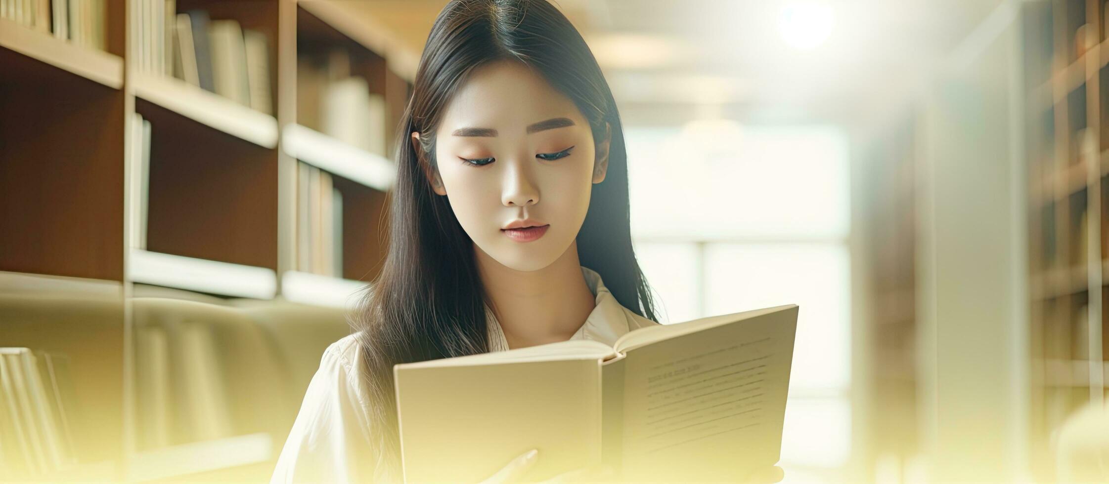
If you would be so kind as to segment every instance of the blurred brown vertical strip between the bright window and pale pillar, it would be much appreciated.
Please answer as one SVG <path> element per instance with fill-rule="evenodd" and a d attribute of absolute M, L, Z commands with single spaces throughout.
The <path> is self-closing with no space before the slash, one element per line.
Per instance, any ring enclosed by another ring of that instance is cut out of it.
<path fill-rule="evenodd" d="M 869 271 L 867 333 L 871 364 L 868 429 L 873 453 L 867 466 L 876 482 L 903 482 L 919 459 L 918 408 L 922 381 L 916 320 L 917 113 L 892 123 L 865 159 L 859 207 L 868 229 Z M 889 474 L 889 473 L 896 474 Z"/>

